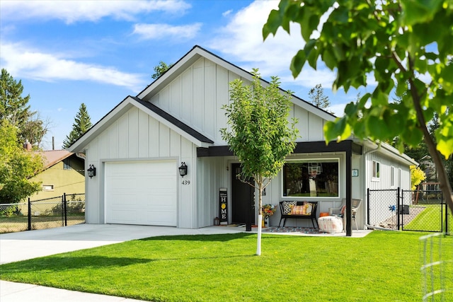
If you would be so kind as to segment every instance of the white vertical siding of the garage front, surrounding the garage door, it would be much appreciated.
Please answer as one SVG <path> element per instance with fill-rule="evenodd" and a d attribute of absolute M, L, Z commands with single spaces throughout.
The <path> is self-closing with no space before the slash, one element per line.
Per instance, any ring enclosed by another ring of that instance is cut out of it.
<path fill-rule="evenodd" d="M 96 177 L 88 180 L 87 190 L 91 200 L 86 203 L 88 223 L 105 223 L 103 196 L 103 165 L 108 161 L 152 161 L 175 159 L 175 173 L 184 161 L 188 175 L 184 180 L 195 181 L 196 146 L 166 125 L 138 108 L 131 108 L 105 129 L 86 147 L 89 165 L 95 165 Z M 193 178 L 190 179 L 190 178 Z M 193 185 L 181 185 L 178 175 L 178 227 L 193 227 Z M 194 184 L 195 185 L 195 184 Z M 190 213 L 190 214 L 180 214 Z"/>

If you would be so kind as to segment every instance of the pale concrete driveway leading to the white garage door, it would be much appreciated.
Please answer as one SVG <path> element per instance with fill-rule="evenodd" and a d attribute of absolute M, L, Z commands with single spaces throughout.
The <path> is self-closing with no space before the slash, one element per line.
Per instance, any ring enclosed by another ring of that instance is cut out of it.
<path fill-rule="evenodd" d="M 0 265 L 154 236 L 240 233 L 243 231 L 245 228 L 231 226 L 191 229 L 170 226 L 84 223 L 47 230 L 6 233 L 0 234 Z"/>

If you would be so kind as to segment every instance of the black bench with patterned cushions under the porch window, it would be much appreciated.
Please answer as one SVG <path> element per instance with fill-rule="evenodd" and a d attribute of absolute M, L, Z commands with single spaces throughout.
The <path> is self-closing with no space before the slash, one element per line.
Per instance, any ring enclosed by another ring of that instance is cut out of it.
<path fill-rule="evenodd" d="M 319 228 L 318 221 L 316 220 L 316 209 L 318 202 L 280 202 L 280 223 L 283 220 L 285 226 L 286 219 L 311 219 L 314 228 Z M 316 222 L 316 227 L 314 223 Z M 278 226 L 280 227 L 280 223 Z"/>

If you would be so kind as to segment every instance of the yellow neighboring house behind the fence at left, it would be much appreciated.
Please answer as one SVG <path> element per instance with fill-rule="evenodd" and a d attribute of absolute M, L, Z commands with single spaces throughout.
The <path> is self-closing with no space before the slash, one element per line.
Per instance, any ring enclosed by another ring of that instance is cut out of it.
<path fill-rule="evenodd" d="M 42 182 L 42 190 L 30 196 L 30 200 L 85 193 L 84 154 L 66 150 L 39 153 L 45 158 L 45 170 L 31 180 Z"/>

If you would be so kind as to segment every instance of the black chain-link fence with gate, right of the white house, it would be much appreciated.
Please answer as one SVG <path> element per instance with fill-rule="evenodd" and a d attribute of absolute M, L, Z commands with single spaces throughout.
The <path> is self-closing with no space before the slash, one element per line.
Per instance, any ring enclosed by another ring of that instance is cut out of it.
<path fill-rule="evenodd" d="M 452 212 L 439 190 L 367 190 L 367 224 L 402 231 L 453 233 Z"/>

